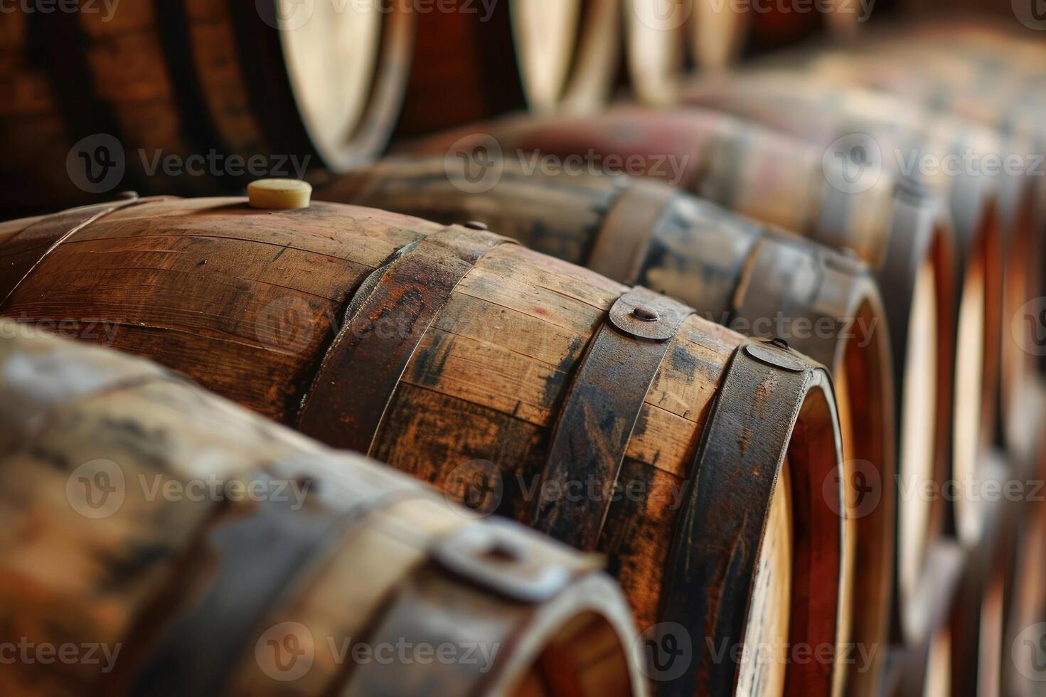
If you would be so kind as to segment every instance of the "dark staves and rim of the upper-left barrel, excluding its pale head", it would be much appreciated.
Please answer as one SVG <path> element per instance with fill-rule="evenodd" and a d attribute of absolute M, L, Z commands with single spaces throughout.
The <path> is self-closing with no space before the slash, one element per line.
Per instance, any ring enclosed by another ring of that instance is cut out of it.
<path fill-rule="evenodd" d="M 10 15 L 12 30 L 0 36 L 3 54 L 13 67 L 25 69 L 12 85 L 3 130 L 14 153 L 47 139 L 3 173 L 17 195 L 5 195 L 2 204 L 17 215 L 104 200 L 65 174 L 73 143 L 96 134 L 112 135 L 123 148 L 124 184 L 154 194 L 241 190 L 248 175 L 230 172 L 224 158 L 231 156 L 245 162 L 260 156 L 266 167 L 292 176 L 299 168 L 312 167 L 313 176 L 320 176 L 317 170 L 324 166 L 335 172 L 356 166 L 384 149 L 406 87 L 415 16 L 392 3 L 383 17 L 381 62 L 367 105 L 351 137 L 326 145 L 311 137 L 298 110 L 280 32 L 265 24 L 254 5 L 145 2 L 112 17 L 18 10 Z M 265 61 L 248 68 L 241 64 L 244 52 Z M 24 108 L 18 99 L 23 94 L 29 95 Z M 207 161 L 211 154 L 223 158 L 217 173 L 207 164 L 200 176 L 152 171 L 157 156 L 178 156 L 185 163 L 189 156 Z M 62 176 L 52 186 L 26 183 L 22 190 L 26 177 L 36 182 L 46 176 L 41 181 L 50 182 L 55 173 Z M 50 195 L 42 199 L 33 189 Z"/>

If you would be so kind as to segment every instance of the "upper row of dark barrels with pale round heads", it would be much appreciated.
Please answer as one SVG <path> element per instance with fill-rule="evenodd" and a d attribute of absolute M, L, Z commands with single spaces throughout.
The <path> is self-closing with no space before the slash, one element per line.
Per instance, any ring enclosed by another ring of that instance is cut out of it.
<path fill-rule="evenodd" d="M 622 74 L 663 103 L 684 43 L 692 62 L 722 66 L 774 23 L 758 15 L 749 27 L 743 15 L 688 0 L 60 4 L 22 3 L 0 27 L 7 210 L 99 201 L 121 182 L 155 194 L 238 193 L 250 179 L 246 162 L 230 163 L 238 156 L 322 179 L 371 159 L 393 133 L 523 108 L 592 113 Z M 838 16 L 841 26 L 855 17 Z M 172 176 L 172 157 L 207 164 Z"/>

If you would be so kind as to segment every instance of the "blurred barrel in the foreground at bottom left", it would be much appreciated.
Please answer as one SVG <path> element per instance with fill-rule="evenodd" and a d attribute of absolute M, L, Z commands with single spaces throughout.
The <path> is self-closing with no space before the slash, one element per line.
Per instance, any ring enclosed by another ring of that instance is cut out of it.
<path fill-rule="evenodd" d="M 0 321 L 5 694 L 646 694 L 591 559 L 44 334 Z"/>

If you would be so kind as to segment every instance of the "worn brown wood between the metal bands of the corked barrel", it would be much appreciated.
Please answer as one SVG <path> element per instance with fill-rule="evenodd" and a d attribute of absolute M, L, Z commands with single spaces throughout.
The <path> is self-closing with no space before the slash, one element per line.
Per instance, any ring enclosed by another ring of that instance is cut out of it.
<path fill-rule="evenodd" d="M 493 237 L 453 229 L 477 239 Z M 396 332 L 408 331 L 395 312 L 369 317 L 355 328 L 344 323 L 344 313 L 373 292 L 378 276 L 385 273 L 376 271 L 397 250 L 445 230 L 397 213 L 321 202 L 275 212 L 251 209 L 242 199 L 143 201 L 99 219 L 59 245 L 0 312 L 23 322 L 66 317 L 75 320 L 75 328 L 111 321 L 115 331 L 107 336 L 114 347 L 147 355 L 205 387 L 294 424 L 337 333 L 362 329 L 381 340 L 382 332 L 395 338 Z M 395 283 L 409 286 L 416 279 Z M 474 508 L 528 520 L 558 417 L 586 347 L 626 290 L 519 245 L 490 249 L 420 335 L 377 432 L 362 434 L 372 439 L 371 454 Z M 597 544 L 642 627 L 664 619 L 659 615 L 663 566 L 709 409 L 713 404 L 724 414 L 737 409 L 738 418 L 751 421 L 751 429 L 768 418 L 758 408 L 757 396 L 736 404 L 717 402 L 724 369 L 745 341 L 742 336 L 690 315 L 668 341 L 666 358 L 652 378 L 620 455 L 618 482 L 631 485 L 634 493 L 609 502 Z M 351 367 L 328 376 L 349 395 L 356 381 Z M 768 375 L 765 388 L 772 391 L 773 384 Z M 803 392 L 797 399 L 831 399 L 826 380 L 813 384 L 809 397 Z M 793 406 L 795 414 L 800 406 Z M 809 414 L 800 418 L 802 428 L 837 432 L 834 413 Z M 782 433 L 758 450 L 758 457 L 766 458 L 756 468 L 759 474 L 735 472 L 736 481 L 744 488 L 765 487 L 765 477 L 777 471 L 789 447 Z M 831 443 L 822 442 L 816 452 L 818 463 L 840 462 Z M 802 480 L 804 490 L 820 492 L 824 472 L 809 462 L 796 452 L 792 479 L 796 487 Z M 500 491 L 477 488 L 477 475 L 485 477 L 484 485 L 500 482 Z M 841 580 L 842 541 L 822 542 L 816 554 L 811 546 L 820 534 L 841 534 L 839 518 L 828 508 L 831 499 L 811 499 L 817 523 L 803 529 L 810 535 L 796 539 L 797 549 L 810 554 L 789 562 L 801 566 L 793 586 L 797 606 L 806 607 L 810 601 L 804 599 L 814 597 L 823 604 L 833 597 L 824 593 L 826 587 L 848 597 Z M 769 496 L 756 501 L 756 515 L 768 515 L 769 503 Z M 754 534 L 758 538 L 761 527 Z M 728 552 L 718 544 L 713 556 Z M 745 568 L 756 568 L 758 540 L 749 540 L 743 554 Z M 748 597 L 751 582 L 731 578 L 738 602 Z M 745 607 L 730 605 L 731 623 L 755 622 L 772 611 L 749 612 Z M 812 644 L 845 640 L 837 633 L 838 610 L 818 608 L 792 624 L 790 636 Z M 695 651 L 703 650 L 701 636 L 692 638 Z M 740 640 L 740 635 L 734 638 Z M 733 667 L 725 664 L 717 670 Z M 797 671 L 795 684 L 827 684 L 838 674 L 832 666 Z"/>

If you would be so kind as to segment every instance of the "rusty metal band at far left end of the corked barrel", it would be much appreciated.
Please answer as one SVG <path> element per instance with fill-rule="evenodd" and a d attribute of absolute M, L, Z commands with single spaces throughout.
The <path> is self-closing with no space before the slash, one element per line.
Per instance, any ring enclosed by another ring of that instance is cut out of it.
<path fill-rule="evenodd" d="M 137 195 L 123 201 L 71 208 L 47 216 L 25 228 L 0 247 L 0 309 L 22 283 L 32 275 L 59 246 L 88 225 L 109 213 L 153 199 Z"/>

